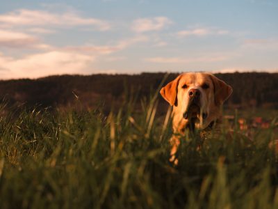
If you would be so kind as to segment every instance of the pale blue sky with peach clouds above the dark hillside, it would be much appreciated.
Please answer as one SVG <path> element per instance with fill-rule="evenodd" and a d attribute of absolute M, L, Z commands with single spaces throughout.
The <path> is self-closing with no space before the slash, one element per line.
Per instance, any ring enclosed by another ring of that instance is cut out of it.
<path fill-rule="evenodd" d="M 278 72 L 277 0 L 0 0 L 0 79 Z"/>

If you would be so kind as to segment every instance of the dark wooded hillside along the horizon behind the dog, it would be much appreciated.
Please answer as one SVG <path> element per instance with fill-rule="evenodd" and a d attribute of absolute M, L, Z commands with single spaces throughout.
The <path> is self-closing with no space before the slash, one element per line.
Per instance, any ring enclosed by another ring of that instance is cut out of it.
<path fill-rule="evenodd" d="M 168 75 L 165 84 L 177 74 Z M 278 73 L 244 72 L 216 74 L 234 88 L 227 105 L 234 107 L 278 107 Z M 8 104 L 26 107 L 67 107 L 76 97 L 84 107 L 122 102 L 124 95 L 138 93 L 139 98 L 154 92 L 165 73 L 140 75 L 62 75 L 40 79 L 0 81 L 0 98 Z"/>

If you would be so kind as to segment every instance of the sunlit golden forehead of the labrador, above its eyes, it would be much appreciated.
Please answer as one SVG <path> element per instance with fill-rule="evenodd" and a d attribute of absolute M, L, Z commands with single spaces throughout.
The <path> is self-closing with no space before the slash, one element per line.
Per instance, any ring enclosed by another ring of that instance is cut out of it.
<path fill-rule="evenodd" d="M 181 84 L 193 84 L 199 86 L 204 84 L 204 82 L 209 82 L 210 79 L 207 74 L 202 72 L 187 72 L 181 75 L 180 82 Z"/>

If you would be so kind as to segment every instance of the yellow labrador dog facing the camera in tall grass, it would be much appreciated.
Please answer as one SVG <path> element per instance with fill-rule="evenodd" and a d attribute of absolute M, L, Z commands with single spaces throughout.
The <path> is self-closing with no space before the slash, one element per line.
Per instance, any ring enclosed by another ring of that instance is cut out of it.
<path fill-rule="evenodd" d="M 232 92 L 231 86 L 204 72 L 183 73 L 161 88 L 161 95 L 173 107 L 170 161 L 174 161 L 180 144 L 177 133 L 182 135 L 186 129 L 194 130 L 195 127 L 204 130 L 220 121 L 222 104 Z"/>

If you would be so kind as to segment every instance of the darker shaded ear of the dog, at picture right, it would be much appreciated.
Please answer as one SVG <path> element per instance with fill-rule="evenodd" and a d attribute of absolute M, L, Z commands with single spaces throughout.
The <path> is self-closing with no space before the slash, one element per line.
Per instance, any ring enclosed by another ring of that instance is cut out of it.
<path fill-rule="evenodd" d="M 231 86 L 229 86 L 222 80 L 218 79 L 214 75 L 210 75 L 210 77 L 213 81 L 215 105 L 219 106 L 220 104 L 223 104 L 223 102 L 229 98 L 231 93 L 233 93 L 233 88 L 231 88 Z"/>

